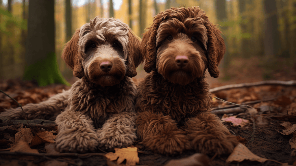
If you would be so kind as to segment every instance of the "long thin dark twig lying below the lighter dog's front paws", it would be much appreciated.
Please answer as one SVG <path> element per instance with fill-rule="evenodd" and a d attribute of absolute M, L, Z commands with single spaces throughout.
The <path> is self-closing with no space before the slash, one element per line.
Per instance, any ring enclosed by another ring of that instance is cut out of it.
<path fill-rule="evenodd" d="M 27 152 L 0 152 L 0 155 L 7 156 L 36 156 L 36 157 L 86 157 L 86 156 L 104 156 L 104 153 L 59 153 L 59 154 L 47 154 L 47 153 L 27 153 Z"/>

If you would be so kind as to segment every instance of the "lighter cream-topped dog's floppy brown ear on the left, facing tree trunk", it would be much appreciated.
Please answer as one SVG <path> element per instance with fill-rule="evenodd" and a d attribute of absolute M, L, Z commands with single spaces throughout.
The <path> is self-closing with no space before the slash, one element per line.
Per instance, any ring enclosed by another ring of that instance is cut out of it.
<path fill-rule="evenodd" d="M 71 40 L 66 43 L 62 52 L 62 58 L 65 63 L 73 69 L 73 75 L 78 78 L 83 77 L 83 67 L 81 63 L 81 56 L 78 50 L 80 29 L 77 29 Z"/>

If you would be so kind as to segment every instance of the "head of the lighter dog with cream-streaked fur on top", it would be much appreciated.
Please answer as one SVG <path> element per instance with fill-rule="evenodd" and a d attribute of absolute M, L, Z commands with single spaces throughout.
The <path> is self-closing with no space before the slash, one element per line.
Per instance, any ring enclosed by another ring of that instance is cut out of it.
<path fill-rule="evenodd" d="M 127 24 L 99 17 L 76 30 L 62 58 L 75 77 L 86 76 L 101 86 L 118 84 L 124 76 L 134 77 L 144 59 L 140 40 Z"/>

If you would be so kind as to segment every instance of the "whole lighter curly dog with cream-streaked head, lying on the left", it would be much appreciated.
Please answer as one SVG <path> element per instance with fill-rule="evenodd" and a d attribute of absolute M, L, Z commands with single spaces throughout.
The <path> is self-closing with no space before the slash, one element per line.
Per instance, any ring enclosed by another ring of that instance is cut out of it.
<path fill-rule="evenodd" d="M 139 46 L 140 40 L 119 20 L 96 17 L 83 25 L 62 53 L 81 80 L 47 101 L 27 104 L 27 118 L 56 119 L 60 152 L 132 145 L 137 137 L 136 85 L 131 77 L 144 59 Z M 0 118 L 7 123 L 24 115 L 16 108 L 2 112 Z"/>

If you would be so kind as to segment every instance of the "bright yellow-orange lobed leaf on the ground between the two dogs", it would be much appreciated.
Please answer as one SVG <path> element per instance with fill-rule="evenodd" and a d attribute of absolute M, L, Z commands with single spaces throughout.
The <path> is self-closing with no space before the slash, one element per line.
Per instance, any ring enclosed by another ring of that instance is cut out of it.
<path fill-rule="evenodd" d="M 139 163 L 140 159 L 138 157 L 138 148 L 137 147 L 127 147 L 127 148 L 114 148 L 115 153 L 109 152 L 105 154 L 104 156 L 107 159 L 110 159 L 111 161 L 116 160 L 117 158 L 117 164 L 120 164 L 123 162 L 123 160 L 126 159 L 126 165 L 132 166 L 136 165 L 136 163 Z"/>

